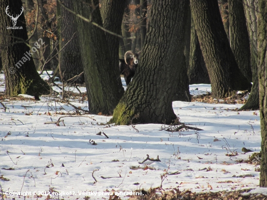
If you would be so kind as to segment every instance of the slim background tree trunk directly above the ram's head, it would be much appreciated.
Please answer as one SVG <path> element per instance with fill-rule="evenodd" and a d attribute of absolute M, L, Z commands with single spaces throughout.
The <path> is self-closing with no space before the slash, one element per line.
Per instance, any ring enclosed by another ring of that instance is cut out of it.
<path fill-rule="evenodd" d="M 130 15 L 129 4 L 130 4 L 129 0 L 126 0 L 124 5 L 124 17 L 121 24 L 122 36 L 124 37 L 123 41 L 124 41 L 125 52 L 131 50 L 132 48 L 132 40 L 127 39 L 131 37 L 131 33 L 129 32 L 129 21 L 128 21 Z"/>

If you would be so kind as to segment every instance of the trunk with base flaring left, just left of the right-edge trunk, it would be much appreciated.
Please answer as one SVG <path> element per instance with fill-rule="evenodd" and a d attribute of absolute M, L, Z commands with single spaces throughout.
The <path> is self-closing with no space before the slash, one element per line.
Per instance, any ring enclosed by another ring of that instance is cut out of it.
<path fill-rule="evenodd" d="M 257 13 L 258 0 L 244 0 L 245 14 L 250 36 L 250 63 L 252 67 L 253 85 L 248 101 L 240 110 L 257 110 L 260 108 L 259 77 L 258 77 L 258 39 L 257 39 Z"/>

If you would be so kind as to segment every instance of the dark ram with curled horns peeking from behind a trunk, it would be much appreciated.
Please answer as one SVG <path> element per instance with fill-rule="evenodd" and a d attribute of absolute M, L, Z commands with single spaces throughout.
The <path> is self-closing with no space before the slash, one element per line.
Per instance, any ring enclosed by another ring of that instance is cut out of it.
<path fill-rule="evenodd" d="M 129 58 L 127 58 L 129 56 Z M 128 50 L 124 55 L 124 60 L 119 59 L 119 72 L 123 74 L 126 85 L 131 82 L 131 79 L 134 77 L 135 70 L 139 62 L 139 52 L 134 53 L 131 50 Z"/>

